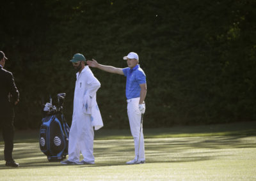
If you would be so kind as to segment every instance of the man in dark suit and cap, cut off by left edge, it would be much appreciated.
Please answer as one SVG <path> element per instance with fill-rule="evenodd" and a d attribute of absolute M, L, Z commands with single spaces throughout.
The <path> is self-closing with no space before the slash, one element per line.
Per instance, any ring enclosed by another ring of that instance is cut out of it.
<path fill-rule="evenodd" d="M 19 163 L 15 163 L 13 160 L 12 152 L 14 137 L 13 106 L 19 102 L 19 91 L 12 73 L 3 69 L 6 60 L 4 52 L 0 51 L 0 126 L 3 132 L 5 165 L 18 167 Z"/>

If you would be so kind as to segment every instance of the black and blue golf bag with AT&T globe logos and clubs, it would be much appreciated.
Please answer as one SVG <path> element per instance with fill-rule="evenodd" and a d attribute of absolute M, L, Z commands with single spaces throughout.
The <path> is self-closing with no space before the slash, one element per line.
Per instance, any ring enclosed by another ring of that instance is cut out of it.
<path fill-rule="evenodd" d="M 68 154 L 68 126 L 63 115 L 63 101 L 66 94 L 58 94 L 58 107 L 50 103 L 44 105 L 42 125 L 40 126 L 40 149 L 48 161 L 61 161 Z"/>

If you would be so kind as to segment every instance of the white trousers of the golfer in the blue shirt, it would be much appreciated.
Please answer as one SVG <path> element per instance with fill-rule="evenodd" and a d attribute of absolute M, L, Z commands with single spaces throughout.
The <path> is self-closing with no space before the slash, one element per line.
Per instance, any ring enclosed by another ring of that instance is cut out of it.
<path fill-rule="evenodd" d="M 127 99 L 127 113 L 129 117 L 132 137 L 134 140 L 135 158 L 138 158 L 138 155 L 139 155 L 139 159 L 145 159 L 144 136 L 143 136 L 142 127 L 141 127 L 141 135 L 140 135 L 141 112 L 138 106 L 139 101 L 140 101 L 140 98 Z M 140 150 L 138 150 L 139 140 L 140 140 Z"/>

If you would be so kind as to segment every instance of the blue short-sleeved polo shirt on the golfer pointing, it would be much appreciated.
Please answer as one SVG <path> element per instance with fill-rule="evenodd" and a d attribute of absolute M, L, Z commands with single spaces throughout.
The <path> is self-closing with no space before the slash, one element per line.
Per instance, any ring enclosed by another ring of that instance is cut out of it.
<path fill-rule="evenodd" d="M 122 70 L 124 76 L 126 76 L 126 98 L 140 98 L 140 84 L 146 83 L 146 75 L 144 71 L 140 68 L 140 65 L 136 65 L 132 69 L 124 68 Z"/>

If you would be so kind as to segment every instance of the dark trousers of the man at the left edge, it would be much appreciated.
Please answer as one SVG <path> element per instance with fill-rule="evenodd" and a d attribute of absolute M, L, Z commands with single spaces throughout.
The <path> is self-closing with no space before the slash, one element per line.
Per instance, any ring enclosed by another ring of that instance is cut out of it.
<path fill-rule="evenodd" d="M 4 140 L 4 160 L 13 161 L 12 151 L 13 151 L 13 138 L 14 138 L 14 126 L 13 117 L 1 117 L 0 124 L 3 132 Z"/>

